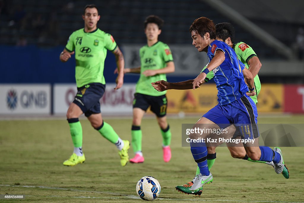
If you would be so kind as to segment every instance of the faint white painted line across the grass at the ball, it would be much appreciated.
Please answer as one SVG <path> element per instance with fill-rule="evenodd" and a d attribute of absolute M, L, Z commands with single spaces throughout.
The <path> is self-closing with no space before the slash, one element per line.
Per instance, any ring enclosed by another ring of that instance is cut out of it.
<path fill-rule="evenodd" d="M 26 187 L 26 188 L 43 188 L 43 189 L 51 189 L 51 190 L 65 190 L 65 191 L 76 191 L 76 192 L 90 192 L 96 194 L 111 194 L 120 197 L 90 197 L 90 196 L 79 196 L 79 197 L 70 197 L 70 196 L 58 196 L 58 195 L 48 195 L 45 197 L 54 197 L 54 198 L 84 198 L 84 199 L 120 199 L 120 198 L 128 198 L 128 199 L 140 199 L 135 195 L 126 195 L 126 194 L 119 194 L 114 192 L 99 192 L 99 191 L 86 191 L 86 190 L 77 190 L 72 188 L 61 188 L 61 187 L 46 187 L 46 186 L 29 186 L 29 185 L 0 185 L 2 187 Z M 26 195 L 31 197 L 41 197 L 41 195 Z M 175 201 L 222 201 L 222 202 L 265 202 L 265 203 L 304 203 L 304 201 L 260 201 L 260 200 L 225 200 L 225 199 L 212 199 L 212 200 L 205 200 L 201 198 L 195 199 L 176 199 L 176 198 L 157 198 L 159 200 L 175 200 Z"/>

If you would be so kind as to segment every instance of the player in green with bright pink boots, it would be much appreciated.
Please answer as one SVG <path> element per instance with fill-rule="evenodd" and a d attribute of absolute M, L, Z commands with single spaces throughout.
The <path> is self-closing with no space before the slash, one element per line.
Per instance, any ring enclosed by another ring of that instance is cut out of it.
<path fill-rule="evenodd" d="M 131 163 L 143 163 L 142 131 L 140 129 L 143 115 L 150 106 L 150 110 L 156 115 L 158 125 L 163 137 L 163 159 L 169 162 L 171 159 L 171 131 L 167 122 L 167 97 L 166 91 L 158 92 L 151 86 L 151 82 L 167 80 L 166 73 L 174 72 L 174 62 L 167 44 L 158 41 L 164 21 L 158 16 L 148 16 L 144 22 L 144 32 L 147 37 L 147 45 L 140 48 L 140 67 L 125 68 L 125 73 L 140 73 L 136 84 L 135 98 L 133 100 L 132 123 L 132 147 L 135 156 Z"/>

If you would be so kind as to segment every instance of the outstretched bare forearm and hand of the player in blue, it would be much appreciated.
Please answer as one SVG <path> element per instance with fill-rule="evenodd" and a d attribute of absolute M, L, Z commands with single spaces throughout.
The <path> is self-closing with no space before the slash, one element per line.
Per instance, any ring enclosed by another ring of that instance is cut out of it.
<path fill-rule="evenodd" d="M 168 89 L 192 89 L 193 80 L 187 80 L 183 82 L 167 82 L 164 80 L 152 82 L 152 86 L 159 92 L 168 90 Z M 202 83 L 204 83 L 203 81 Z"/>

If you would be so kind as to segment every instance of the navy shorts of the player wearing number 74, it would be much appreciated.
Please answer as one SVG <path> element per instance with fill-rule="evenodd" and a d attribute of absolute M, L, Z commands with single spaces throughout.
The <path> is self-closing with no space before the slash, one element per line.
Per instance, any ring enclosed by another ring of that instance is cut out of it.
<path fill-rule="evenodd" d="M 77 88 L 73 103 L 77 104 L 86 117 L 100 113 L 100 98 L 105 93 L 105 85 L 94 82 Z"/>

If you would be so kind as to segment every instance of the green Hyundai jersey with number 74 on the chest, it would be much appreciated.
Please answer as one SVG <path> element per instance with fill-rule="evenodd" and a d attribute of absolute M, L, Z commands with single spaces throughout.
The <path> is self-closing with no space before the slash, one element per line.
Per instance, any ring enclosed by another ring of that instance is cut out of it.
<path fill-rule="evenodd" d="M 115 48 L 113 37 L 98 28 L 90 33 L 82 28 L 71 34 L 65 49 L 75 51 L 77 87 L 93 82 L 105 84 L 105 57 L 107 50 L 113 51 Z"/>

